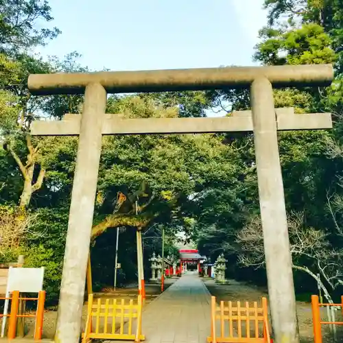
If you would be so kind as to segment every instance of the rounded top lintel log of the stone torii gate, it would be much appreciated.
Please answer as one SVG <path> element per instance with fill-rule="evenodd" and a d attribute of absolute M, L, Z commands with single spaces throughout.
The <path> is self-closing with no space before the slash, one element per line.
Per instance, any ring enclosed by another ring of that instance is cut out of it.
<path fill-rule="evenodd" d="M 101 71 L 96 73 L 31 74 L 28 88 L 34 95 L 82 94 L 87 84 L 99 83 L 108 93 L 198 91 L 247 88 L 265 77 L 274 87 L 328 86 L 333 80 L 331 64 L 268 67 L 224 67 L 155 71 Z"/>

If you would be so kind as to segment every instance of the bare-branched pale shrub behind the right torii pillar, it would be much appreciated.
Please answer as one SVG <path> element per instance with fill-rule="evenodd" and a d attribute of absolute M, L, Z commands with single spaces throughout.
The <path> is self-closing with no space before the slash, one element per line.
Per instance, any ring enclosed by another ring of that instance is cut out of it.
<path fill-rule="evenodd" d="M 332 209 L 331 213 L 334 215 Z M 335 225 L 340 235 L 342 230 L 337 223 Z M 328 234 L 323 230 L 304 226 L 303 213 L 291 213 L 288 216 L 288 229 L 293 268 L 307 272 L 316 279 L 330 300 L 326 287 L 329 286 L 333 291 L 338 285 L 343 285 L 343 251 L 331 246 Z M 264 265 L 263 230 L 259 217 L 252 218 L 238 233 L 236 241 L 241 246 L 239 263 L 255 268 Z M 318 279 L 317 272 L 324 278 L 325 285 Z"/>

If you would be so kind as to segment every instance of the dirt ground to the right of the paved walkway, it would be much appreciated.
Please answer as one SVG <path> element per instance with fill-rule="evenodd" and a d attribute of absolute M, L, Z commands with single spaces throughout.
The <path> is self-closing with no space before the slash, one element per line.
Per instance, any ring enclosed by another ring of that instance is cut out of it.
<path fill-rule="evenodd" d="M 262 296 L 268 298 L 267 289 L 261 287 L 255 287 L 246 283 L 238 282 L 235 280 L 228 280 L 228 285 L 218 285 L 213 279 L 204 278 L 204 284 L 206 285 L 209 292 L 217 298 L 217 302 L 224 301 L 258 301 Z M 300 341 L 303 343 L 314 342 L 313 324 L 312 324 L 312 311 L 311 303 L 305 303 L 297 301 L 296 310 L 298 314 L 298 324 L 300 331 Z M 327 320 L 326 310 L 322 309 L 321 312 L 322 320 Z M 336 320 L 342 320 L 341 314 L 338 314 Z M 343 329 L 343 328 L 342 328 Z M 327 328 L 322 329 L 323 343 L 331 343 L 333 339 L 329 335 Z M 338 327 L 338 335 L 340 336 L 340 327 Z M 343 339 L 338 338 L 336 342 L 343 342 Z"/>

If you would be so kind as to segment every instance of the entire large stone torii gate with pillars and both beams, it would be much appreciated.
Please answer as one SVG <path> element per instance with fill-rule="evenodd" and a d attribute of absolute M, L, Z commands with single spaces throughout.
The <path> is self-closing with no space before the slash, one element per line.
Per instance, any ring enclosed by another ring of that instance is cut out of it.
<path fill-rule="evenodd" d="M 274 87 L 328 86 L 331 64 L 29 75 L 33 95 L 82 94 L 81 116 L 34 121 L 34 135 L 80 135 L 58 307 L 56 342 L 77 343 L 103 134 L 253 131 L 272 326 L 276 343 L 298 343 L 296 301 L 277 130 L 331 128 L 330 114 L 274 108 Z M 249 88 L 252 111 L 224 118 L 123 119 L 105 114 L 107 93 Z M 70 119 L 72 118 L 72 119 Z"/>

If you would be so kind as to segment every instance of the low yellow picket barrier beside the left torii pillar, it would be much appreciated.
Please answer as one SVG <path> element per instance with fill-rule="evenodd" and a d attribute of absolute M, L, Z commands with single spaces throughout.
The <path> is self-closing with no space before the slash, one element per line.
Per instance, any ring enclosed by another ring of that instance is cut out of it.
<path fill-rule="evenodd" d="M 133 324 L 136 324 L 134 333 L 132 333 Z M 141 334 L 141 325 L 141 296 L 138 296 L 138 302 L 134 303 L 132 299 L 126 301 L 124 299 L 99 298 L 94 301 L 93 294 L 89 294 L 86 328 L 82 334 L 82 343 L 92 339 L 140 342 L 145 340 L 145 336 Z"/>

